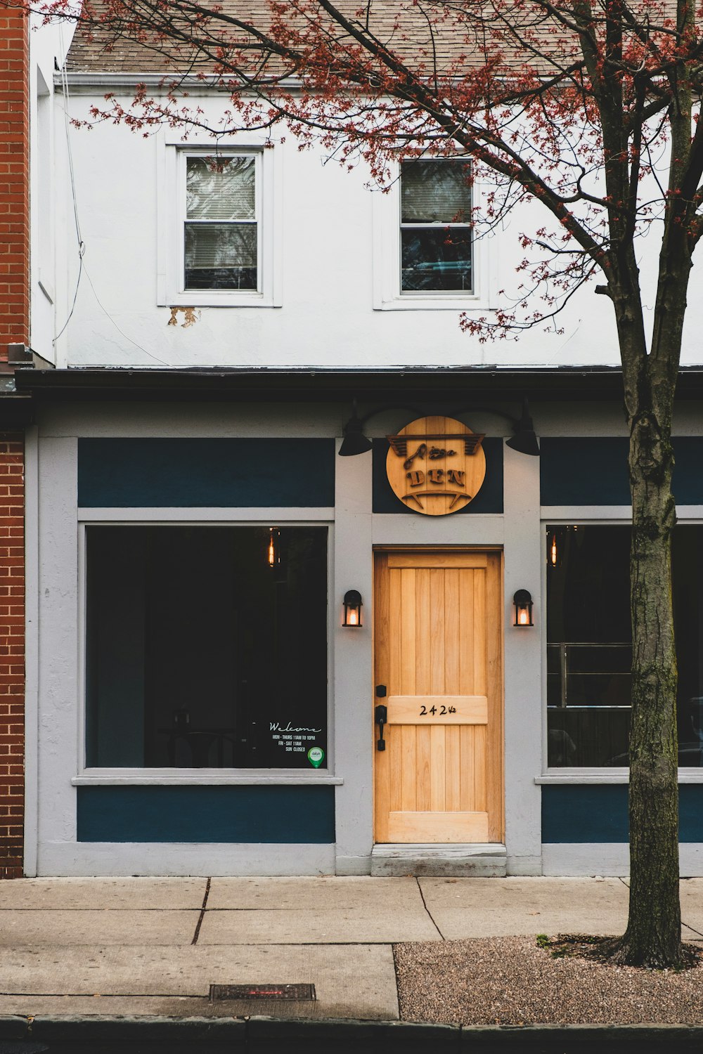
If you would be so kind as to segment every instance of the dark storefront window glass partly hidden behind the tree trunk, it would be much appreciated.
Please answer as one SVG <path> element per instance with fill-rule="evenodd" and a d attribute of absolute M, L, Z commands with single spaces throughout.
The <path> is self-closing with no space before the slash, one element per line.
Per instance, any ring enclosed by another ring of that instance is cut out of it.
<path fill-rule="evenodd" d="M 547 762 L 626 766 L 632 661 L 628 527 L 548 526 Z M 703 764 L 703 527 L 679 526 L 671 564 L 679 764 Z"/>

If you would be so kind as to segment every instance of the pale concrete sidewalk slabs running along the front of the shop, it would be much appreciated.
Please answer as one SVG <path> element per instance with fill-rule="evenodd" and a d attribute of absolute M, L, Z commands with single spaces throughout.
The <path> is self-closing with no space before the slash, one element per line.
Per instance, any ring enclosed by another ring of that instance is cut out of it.
<path fill-rule="evenodd" d="M 681 883 L 703 943 L 703 879 Z M 397 1020 L 392 945 L 617 934 L 620 879 L 123 878 L 0 884 L 0 1014 Z M 315 1001 L 210 1001 L 211 984 L 313 983 Z"/>

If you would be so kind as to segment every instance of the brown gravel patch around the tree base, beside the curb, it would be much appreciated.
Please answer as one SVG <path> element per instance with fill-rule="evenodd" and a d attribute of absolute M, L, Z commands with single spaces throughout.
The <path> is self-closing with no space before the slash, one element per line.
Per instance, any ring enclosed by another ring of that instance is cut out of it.
<path fill-rule="evenodd" d="M 703 964 L 638 970 L 534 937 L 396 944 L 401 1018 L 458 1024 L 703 1024 Z"/>

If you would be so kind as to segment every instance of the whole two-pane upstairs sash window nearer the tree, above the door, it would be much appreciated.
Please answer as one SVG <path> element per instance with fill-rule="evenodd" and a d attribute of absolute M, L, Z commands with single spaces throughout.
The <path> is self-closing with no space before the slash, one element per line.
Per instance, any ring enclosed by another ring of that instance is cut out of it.
<path fill-rule="evenodd" d="M 464 159 L 402 164 L 401 291 L 473 291 L 471 188 Z"/>

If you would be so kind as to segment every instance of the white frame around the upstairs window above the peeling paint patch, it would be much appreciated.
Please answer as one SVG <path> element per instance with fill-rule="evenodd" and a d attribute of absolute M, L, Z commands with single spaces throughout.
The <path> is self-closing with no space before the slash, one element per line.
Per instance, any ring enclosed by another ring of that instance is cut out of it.
<path fill-rule="evenodd" d="M 188 157 L 254 157 L 257 225 L 257 289 L 184 288 L 185 161 Z M 169 130 L 158 152 L 157 304 L 159 307 L 278 308 L 281 281 L 280 147 L 248 135 L 218 142 L 209 137 L 187 141 Z"/>

